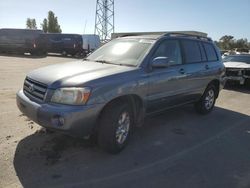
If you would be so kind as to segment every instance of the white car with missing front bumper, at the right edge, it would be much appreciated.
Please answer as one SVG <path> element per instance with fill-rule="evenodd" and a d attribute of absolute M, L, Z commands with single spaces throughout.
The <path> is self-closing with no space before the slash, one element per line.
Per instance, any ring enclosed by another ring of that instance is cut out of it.
<path fill-rule="evenodd" d="M 250 79 L 250 54 L 229 55 L 223 59 L 227 80 L 243 85 Z"/>

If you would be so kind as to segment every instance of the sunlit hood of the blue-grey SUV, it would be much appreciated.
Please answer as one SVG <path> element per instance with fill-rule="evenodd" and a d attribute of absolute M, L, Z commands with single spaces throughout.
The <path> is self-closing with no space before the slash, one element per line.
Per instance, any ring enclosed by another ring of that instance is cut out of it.
<path fill-rule="evenodd" d="M 134 70 L 111 64 L 91 61 L 75 61 L 42 67 L 30 72 L 27 76 L 35 81 L 48 85 L 49 88 L 78 86 L 101 77 Z"/>

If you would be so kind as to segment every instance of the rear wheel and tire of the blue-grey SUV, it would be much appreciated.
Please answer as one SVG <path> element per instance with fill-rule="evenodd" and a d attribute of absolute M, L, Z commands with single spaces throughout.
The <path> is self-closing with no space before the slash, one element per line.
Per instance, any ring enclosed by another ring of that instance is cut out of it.
<path fill-rule="evenodd" d="M 217 90 L 214 85 L 209 85 L 205 92 L 203 93 L 200 100 L 195 103 L 195 109 L 200 114 L 208 114 L 210 113 L 216 101 L 216 93 Z"/>

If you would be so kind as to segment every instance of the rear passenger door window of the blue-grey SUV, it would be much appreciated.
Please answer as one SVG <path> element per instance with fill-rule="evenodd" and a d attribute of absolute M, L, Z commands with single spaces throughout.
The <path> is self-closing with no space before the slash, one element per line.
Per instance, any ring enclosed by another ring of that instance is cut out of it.
<path fill-rule="evenodd" d="M 199 43 L 192 40 L 182 41 L 186 63 L 198 63 L 202 61 Z"/>

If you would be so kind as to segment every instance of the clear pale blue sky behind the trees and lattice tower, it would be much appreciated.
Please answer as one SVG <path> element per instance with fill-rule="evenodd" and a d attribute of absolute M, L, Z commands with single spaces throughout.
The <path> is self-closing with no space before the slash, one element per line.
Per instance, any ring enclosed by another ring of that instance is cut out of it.
<path fill-rule="evenodd" d="M 63 33 L 94 33 L 96 0 L 0 0 L 0 28 L 40 27 L 47 12 Z M 85 27 L 86 25 L 86 27 Z M 233 35 L 250 41 L 250 0 L 115 0 L 115 31 L 197 30 L 214 40 Z"/>

